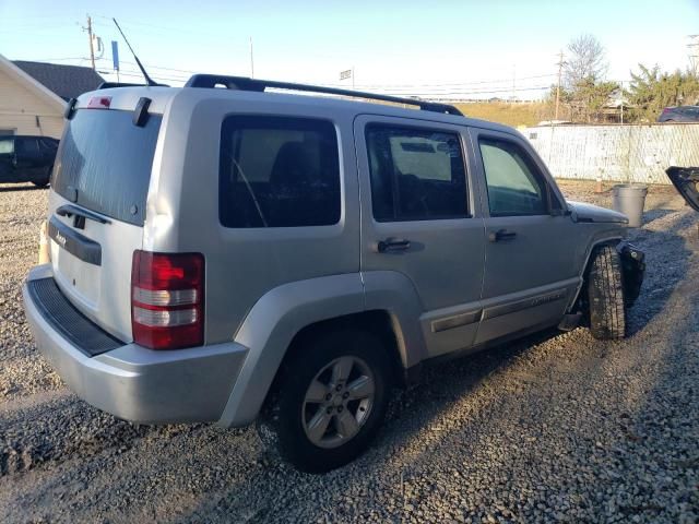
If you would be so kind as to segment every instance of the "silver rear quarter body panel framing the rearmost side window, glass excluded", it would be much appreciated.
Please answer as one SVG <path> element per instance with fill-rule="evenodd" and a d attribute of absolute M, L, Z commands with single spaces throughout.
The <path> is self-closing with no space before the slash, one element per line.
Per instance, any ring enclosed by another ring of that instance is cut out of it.
<path fill-rule="evenodd" d="M 187 92 L 188 90 L 182 90 Z M 151 181 L 144 249 L 206 259 L 205 340 L 230 341 L 246 314 L 283 284 L 359 271 L 359 205 L 352 116 L 312 104 L 176 96 L 163 122 L 164 154 Z M 227 115 L 331 120 L 340 144 L 341 218 L 331 226 L 226 228 L 218 219 L 221 128 Z"/>

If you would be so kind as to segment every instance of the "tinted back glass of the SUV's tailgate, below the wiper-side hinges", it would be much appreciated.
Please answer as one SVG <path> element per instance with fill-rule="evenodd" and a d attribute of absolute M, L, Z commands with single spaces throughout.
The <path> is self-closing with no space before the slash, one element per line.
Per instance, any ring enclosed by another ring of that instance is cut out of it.
<path fill-rule="evenodd" d="M 75 111 L 60 141 L 54 190 L 117 221 L 142 226 L 162 117 L 144 127 L 130 111 Z"/>

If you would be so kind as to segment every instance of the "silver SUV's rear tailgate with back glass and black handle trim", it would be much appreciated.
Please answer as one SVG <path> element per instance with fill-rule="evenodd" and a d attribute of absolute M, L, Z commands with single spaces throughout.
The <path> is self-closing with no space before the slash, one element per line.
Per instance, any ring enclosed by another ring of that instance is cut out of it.
<path fill-rule="evenodd" d="M 133 251 L 143 224 L 161 116 L 79 109 L 67 121 L 49 200 L 50 254 L 59 288 L 121 341 L 131 336 Z"/>

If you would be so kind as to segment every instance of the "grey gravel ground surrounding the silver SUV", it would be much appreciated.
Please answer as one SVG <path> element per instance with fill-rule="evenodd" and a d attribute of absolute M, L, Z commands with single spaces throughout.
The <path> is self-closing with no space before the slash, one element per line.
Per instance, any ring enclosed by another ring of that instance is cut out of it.
<path fill-rule="evenodd" d="M 568 198 L 609 206 L 594 184 Z M 250 429 L 102 414 L 44 362 L 20 285 L 47 191 L 0 188 L 2 522 L 699 521 L 699 214 L 652 188 L 631 335 L 544 333 L 435 366 L 376 445 L 322 476 Z"/>

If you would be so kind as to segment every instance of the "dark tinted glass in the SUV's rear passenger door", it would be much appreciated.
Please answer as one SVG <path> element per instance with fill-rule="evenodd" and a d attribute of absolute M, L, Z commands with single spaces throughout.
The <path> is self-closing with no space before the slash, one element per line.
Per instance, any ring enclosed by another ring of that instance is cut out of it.
<path fill-rule="evenodd" d="M 375 124 L 367 128 L 366 140 L 377 221 L 467 216 L 458 134 Z"/>

